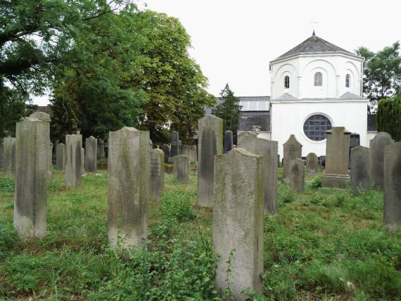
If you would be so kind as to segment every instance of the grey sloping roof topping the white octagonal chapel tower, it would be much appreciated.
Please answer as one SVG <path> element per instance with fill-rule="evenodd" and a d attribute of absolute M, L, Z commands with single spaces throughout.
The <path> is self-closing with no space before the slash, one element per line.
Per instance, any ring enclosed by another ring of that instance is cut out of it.
<path fill-rule="evenodd" d="M 316 53 L 316 52 L 343 52 L 352 56 L 356 56 L 355 53 L 342 49 L 329 41 L 317 37 L 317 35 L 312 34 L 311 37 L 305 39 L 301 44 L 295 46 L 293 49 L 287 51 L 286 53 L 279 56 L 279 58 L 286 58 L 287 56 L 293 56 L 300 53 Z"/>

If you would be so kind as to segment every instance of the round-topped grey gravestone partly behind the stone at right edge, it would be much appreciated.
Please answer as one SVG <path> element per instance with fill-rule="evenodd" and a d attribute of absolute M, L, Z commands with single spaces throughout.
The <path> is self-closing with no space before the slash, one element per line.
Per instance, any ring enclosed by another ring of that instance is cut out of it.
<path fill-rule="evenodd" d="M 384 175 L 384 147 L 394 145 L 394 140 L 390 134 L 386 132 L 378 132 L 374 139 L 370 141 L 370 168 L 371 168 L 371 183 L 374 186 L 383 188 Z"/>

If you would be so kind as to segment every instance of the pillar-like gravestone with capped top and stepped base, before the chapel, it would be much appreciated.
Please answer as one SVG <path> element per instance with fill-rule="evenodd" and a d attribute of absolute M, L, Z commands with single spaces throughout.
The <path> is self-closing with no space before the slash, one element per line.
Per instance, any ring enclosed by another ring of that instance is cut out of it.
<path fill-rule="evenodd" d="M 332 127 L 326 134 L 326 166 L 322 186 L 345 188 L 350 179 L 348 176 L 350 132 L 345 127 Z"/>

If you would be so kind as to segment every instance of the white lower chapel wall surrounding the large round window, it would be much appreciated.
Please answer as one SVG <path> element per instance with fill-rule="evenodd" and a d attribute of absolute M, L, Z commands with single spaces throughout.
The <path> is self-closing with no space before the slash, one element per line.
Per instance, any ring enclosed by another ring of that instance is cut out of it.
<path fill-rule="evenodd" d="M 315 114 L 325 115 L 332 127 L 345 127 L 358 133 L 362 146 L 369 146 L 367 139 L 367 100 L 333 101 L 272 101 L 272 140 L 279 142 L 279 155 L 283 156 L 283 144 L 291 134 L 303 145 L 303 156 L 308 153 L 326 154 L 326 140 L 312 141 L 305 136 L 303 124 Z"/>

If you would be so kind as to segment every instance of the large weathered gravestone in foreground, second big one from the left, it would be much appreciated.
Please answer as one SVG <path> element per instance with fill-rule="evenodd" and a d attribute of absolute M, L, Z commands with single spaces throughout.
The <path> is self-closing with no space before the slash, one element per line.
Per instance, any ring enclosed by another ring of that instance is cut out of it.
<path fill-rule="evenodd" d="M 148 228 L 149 132 L 123 127 L 108 140 L 108 243 L 140 245 Z"/>

